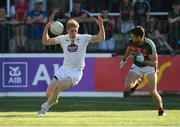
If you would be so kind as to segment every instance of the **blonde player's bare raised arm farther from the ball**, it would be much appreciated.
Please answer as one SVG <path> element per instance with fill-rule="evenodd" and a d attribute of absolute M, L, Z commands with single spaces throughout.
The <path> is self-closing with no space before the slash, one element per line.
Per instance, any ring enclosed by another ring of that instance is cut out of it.
<path fill-rule="evenodd" d="M 96 20 L 96 23 L 99 26 L 99 33 L 92 37 L 91 42 L 102 42 L 105 40 L 105 30 L 103 25 L 103 19 L 98 16 Z"/>

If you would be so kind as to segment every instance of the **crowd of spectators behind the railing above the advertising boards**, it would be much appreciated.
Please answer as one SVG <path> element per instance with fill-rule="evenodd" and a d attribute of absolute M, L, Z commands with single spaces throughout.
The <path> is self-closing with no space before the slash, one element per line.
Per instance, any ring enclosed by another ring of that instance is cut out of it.
<path fill-rule="evenodd" d="M 73 10 L 65 13 L 55 7 L 44 10 L 44 2 L 36 0 L 33 9 L 29 9 L 28 0 L 15 0 L 11 15 L 0 6 L 0 52 L 57 52 L 58 46 L 44 47 L 41 37 L 44 25 L 51 20 L 60 21 L 66 27 L 67 20 L 74 18 L 80 23 L 79 33 L 96 34 L 94 16 L 85 8 L 82 1 L 73 1 Z M 180 1 L 174 0 L 172 10 L 165 20 L 150 15 L 148 0 L 121 0 L 118 4 L 120 15 L 112 16 L 107 7 L 100 6 L 99 12 L 104 19 L 106 40 L 95 46 L 89 46 L 90 52 L 124 51 L 129 31 L 136 25 L 146 29 L 146 36 L 154 40 L 160 53 L 177 54 L 180 50 Z M 90 12 L 93 12 L 91 8 Z M 64 31 L 66 33 L 66 31 Z M 50 36 L 51 33 L 49 32 Z"/>

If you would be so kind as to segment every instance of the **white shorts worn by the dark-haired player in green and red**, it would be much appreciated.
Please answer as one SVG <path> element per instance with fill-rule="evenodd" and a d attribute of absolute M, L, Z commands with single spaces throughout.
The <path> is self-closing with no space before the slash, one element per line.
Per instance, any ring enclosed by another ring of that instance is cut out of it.
<path fill-rule="evenodd" d="M 151 67 L 151 66 L 138 67 L 135 64 L 131 66 L 130 71 L 133 71 L 134 73 L 138 75 L 148 75 L 151 73 L 156 73 L 155 67 Z"/>

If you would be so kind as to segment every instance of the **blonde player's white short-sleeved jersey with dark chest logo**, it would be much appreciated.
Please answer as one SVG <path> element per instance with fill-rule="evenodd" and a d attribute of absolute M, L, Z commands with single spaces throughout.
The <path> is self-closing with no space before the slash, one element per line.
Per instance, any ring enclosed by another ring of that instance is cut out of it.
<path fill-rule="evenodd" d="M 55 37 L 55 43 L 60 44 L 63 49 L 63 66 L 72 70 L 83 70 L 85 66 L 86 48 L 92 35 L 77 34 L 75 39 L 70 39 L 69 35 L 59 35 Z"/>

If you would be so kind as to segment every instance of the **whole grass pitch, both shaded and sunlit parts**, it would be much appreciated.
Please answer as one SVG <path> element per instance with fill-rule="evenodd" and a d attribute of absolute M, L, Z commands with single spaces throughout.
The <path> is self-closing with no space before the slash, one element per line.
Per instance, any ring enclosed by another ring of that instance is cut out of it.
<path fill-rule="evenodd" d="M 0 98 L 1 126 L 180 126 L 180 96 L 163 96 L 166 117 L 158 117 L 150 96 L 61 98 L 46 116 L 36 116 L 45 98 Z"/>

